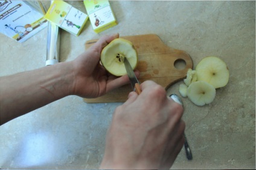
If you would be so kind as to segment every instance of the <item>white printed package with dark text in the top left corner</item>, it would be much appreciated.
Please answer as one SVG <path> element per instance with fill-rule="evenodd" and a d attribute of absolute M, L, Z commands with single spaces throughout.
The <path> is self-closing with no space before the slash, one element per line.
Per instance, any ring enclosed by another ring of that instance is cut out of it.
<path fill-rule="evenodd" d="M 0 1 L 0 32 L 24 42 L 47 26 L 40 1 Z"/>

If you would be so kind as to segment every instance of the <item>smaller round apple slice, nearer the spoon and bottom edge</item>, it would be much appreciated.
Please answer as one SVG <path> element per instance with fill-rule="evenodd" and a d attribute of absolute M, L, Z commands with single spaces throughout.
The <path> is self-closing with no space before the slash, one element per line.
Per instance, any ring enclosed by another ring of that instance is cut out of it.
<path fill-rule="evenodd" d="M 216 90 L 210 83 L 199 80 L 190 84 L 187 96 L 195 105 L 203 106 L 213 102 Z"/>

